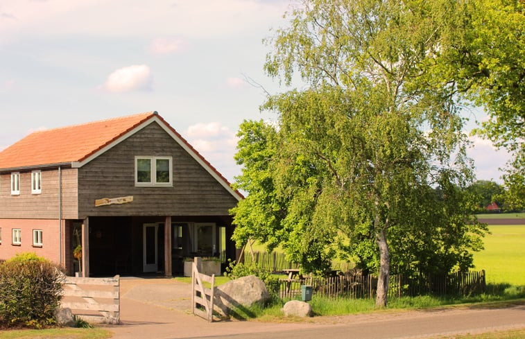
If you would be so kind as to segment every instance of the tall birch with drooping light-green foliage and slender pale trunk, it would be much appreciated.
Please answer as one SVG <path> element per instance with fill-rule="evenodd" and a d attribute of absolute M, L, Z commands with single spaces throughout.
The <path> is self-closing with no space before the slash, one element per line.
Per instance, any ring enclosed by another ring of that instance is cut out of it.
<path fill-rule="evenodd" d="M 302 1 L 270 40 L 268 74 L 290 85 L 298 72 L 310 85 L 266 105 L 280 113 L 279 151 L 291 151 L 278 166 L 291 178 L 284 223 L 320 234 L 312 244 L 368 227 L 379 250 L 377 306 L 386 306 L 390 229 L 413 224 L 406 209 L 421 202 L 419 191 L 472 178 L 454 92 L 420 86 L 455 9 L 449 2 Z M 287 159 L 300 156 L 315 175 L 294 185 L 299 171 Z M 466 216 L 442 221 L 465 231 Z"/>

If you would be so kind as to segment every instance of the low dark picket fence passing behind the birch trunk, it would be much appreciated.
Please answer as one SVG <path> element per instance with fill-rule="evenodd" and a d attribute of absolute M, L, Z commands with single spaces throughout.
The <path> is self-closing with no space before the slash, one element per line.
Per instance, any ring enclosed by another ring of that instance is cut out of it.
<path fill-rule="evenodd" d="M 281 279 L 279 296 L 297 299 L 301 285 L 312 286 L 313 295 L 322 297 L 372 298 L 377 289 L 375 275 L 341 275 Z M 417 274 L 412 277 L 390 276 L 388 297 L 415 295 L 474 295 L 485 291 L 485 271 L 454 272 L 448 275 Z"/>

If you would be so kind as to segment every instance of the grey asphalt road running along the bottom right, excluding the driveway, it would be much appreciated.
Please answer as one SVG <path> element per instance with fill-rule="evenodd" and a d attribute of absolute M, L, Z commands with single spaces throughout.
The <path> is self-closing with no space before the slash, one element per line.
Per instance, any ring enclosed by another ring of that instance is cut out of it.
<path fill-rule="evenodd" d="M 458 333 L 484 333 L 507 329 L 525 329 L 525 305 L 508 308 L 462 308 L 453 310 L 408 311 L 379 315 L 347 316 L 335 324 L 318 327 L 258 333 L 230 333 L 197 338 L 243 339 L 408 339 L 435 338 Z M 219 328 L 217 328 L 220 333 Z M 180 337 L 179 337 L 180 338 Z"/>

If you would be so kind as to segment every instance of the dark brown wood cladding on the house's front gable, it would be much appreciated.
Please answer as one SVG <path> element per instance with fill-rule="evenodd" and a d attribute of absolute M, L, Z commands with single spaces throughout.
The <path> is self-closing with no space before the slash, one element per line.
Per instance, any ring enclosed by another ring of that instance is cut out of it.
<path fill-rule="evenodd" d="M 135 187 L 135 156 L 173 157 L 173 187 Z M 78 218 L 85 216 L 227 216 L 237 200 L 157 123 L 78 168 Z M 96 199 L 133 196 L 123 205 Z"/>

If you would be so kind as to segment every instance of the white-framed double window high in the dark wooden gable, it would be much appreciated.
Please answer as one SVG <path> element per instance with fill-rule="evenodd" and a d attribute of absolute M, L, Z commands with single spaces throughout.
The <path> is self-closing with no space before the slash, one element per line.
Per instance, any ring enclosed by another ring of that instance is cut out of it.
<path fill-rule="evenodd" d="M 135 186 L 173 186 L 171 157 L 135 157 Z"/>

